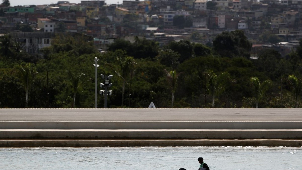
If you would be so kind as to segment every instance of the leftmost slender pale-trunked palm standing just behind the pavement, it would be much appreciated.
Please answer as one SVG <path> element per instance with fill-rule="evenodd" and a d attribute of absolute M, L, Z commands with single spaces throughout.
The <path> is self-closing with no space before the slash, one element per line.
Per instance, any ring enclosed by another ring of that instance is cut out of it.
<path fill-rule="evenodd" d="M 25 90 L 25 107 L 28 107 L 28 91 L 30 90 L 31 83 L 37 73 L 34 64 L 31 63 L 21 63 L 15 67 L 18 78 L 21 80 L 22 85 Z"/>

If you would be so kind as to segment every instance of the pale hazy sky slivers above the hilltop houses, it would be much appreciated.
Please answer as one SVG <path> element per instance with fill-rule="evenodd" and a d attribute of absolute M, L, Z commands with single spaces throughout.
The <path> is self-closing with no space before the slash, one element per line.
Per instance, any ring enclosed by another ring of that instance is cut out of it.
<path fill-rule="evenodd" d="M 11 6 L 18 6 L 18 5 L 44 5 L 44 4 L 56 4 L 58 1 L 63 0 L 9 0 Z M 68 0 L 67 0 L 68 1 Z M 2 1 L 1 1 L 2 2 Z M 70 3 L 81 3 L 81 0 L 69 0 Z M 123 0 L 105 0 L 107 4 L 120 4 L 123 3 Z"/>

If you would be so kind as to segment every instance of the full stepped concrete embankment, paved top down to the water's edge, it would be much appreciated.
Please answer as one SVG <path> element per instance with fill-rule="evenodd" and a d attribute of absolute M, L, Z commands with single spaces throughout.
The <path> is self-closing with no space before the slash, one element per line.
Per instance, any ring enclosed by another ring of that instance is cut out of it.
<path fill-rule="evenodd" d="M 0 109 L 0 118 L 0 147 L 302 146 L 301 109 Z"/>

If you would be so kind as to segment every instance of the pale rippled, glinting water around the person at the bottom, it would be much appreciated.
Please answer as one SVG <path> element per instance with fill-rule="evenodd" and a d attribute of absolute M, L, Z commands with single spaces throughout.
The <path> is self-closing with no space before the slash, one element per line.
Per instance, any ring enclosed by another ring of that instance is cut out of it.
<path fill-rule="evenodd" d="M 302 147 L 0 148 L 0 169 L 302 170 Z"/>

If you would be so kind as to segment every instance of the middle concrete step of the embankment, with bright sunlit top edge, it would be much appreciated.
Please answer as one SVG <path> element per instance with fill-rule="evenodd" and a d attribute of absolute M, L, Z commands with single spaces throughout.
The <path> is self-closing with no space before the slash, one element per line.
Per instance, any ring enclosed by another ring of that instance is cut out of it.
<path fill-rule="evenodd" d="M 302 129 L 2 129 L 0 139 L 302 139 Z"/>

